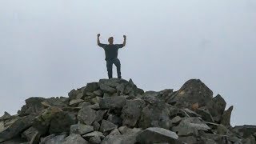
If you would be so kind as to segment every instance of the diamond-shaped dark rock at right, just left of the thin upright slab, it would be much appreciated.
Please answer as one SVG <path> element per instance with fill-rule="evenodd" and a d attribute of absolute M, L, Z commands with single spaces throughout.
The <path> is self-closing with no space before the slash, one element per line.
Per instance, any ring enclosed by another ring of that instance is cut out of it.
<path fill-rule="evenodd" d="M 215 122 L 220 122 L 222 114 L 226 108 L 226 102 L 221 95 L 217 95 L 206 105 L 207 109 L 210 111 L 210 114 L 214 118 Z"/>

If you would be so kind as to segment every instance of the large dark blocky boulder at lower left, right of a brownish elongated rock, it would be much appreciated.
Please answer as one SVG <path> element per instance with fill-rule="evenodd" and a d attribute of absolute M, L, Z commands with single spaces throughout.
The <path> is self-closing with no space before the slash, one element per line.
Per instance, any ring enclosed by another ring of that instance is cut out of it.
<path fill-rule="evenodd" d="M 50 134 L 59 134 L 70 131 L 70 126 L 77 123 L 76 115 L 66 111 L 60 111 L 53 115 L 50 121 Z"/>

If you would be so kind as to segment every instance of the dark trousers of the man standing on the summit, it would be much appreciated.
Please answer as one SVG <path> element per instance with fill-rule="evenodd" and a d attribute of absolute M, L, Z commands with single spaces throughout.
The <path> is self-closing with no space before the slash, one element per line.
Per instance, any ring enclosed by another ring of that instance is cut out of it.
<path fill-rule="evenodd" d="M 106 70 L 109 78 L 112 78 L 113 63 L 115 66 L 117 66 L 118 78 L 121 78 L 121 63 L 118 58 L 106 60 Z"/>

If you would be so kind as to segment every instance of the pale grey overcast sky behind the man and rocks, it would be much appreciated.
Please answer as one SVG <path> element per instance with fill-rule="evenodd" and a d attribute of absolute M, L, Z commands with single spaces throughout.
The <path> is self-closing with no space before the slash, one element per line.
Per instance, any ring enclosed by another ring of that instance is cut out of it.
<path fill-rule="evenodd" d="M 0 115 L 106 78 L 101 33 L 127 35 L 123 78 L 144 90 L 199 78 L 234 105 L 232 125 L 256 125 L 255 15 L 255 0 L 1 0 Z"/>

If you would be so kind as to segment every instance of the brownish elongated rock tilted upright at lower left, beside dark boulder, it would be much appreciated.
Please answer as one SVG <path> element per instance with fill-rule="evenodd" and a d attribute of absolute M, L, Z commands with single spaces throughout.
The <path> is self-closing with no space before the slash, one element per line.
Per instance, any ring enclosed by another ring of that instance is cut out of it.
<path fill-rule="evenodd" d="M 38 115 L 34 118 L 33 127 L 36 128 L 39 134 L 46 134 L 49 129 L 51 118 L 55 113 L 62 111 L 62 109 L 58 107 L 49 107 L 42 112 L 42 114 Z"/>

